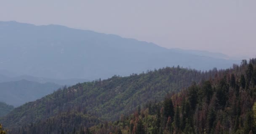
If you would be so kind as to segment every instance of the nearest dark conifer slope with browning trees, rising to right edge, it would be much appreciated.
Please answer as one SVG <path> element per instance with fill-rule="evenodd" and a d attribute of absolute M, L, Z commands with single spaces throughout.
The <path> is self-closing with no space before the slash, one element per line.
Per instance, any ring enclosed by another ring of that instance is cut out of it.
<path fill-rule="evenodd" d="M 130 116 L 88 130 L 93 134 L 255 134 L 255 101 L 256 59 L 251 59 L 166 95 L 162 103 L 147 103 Z"/>

